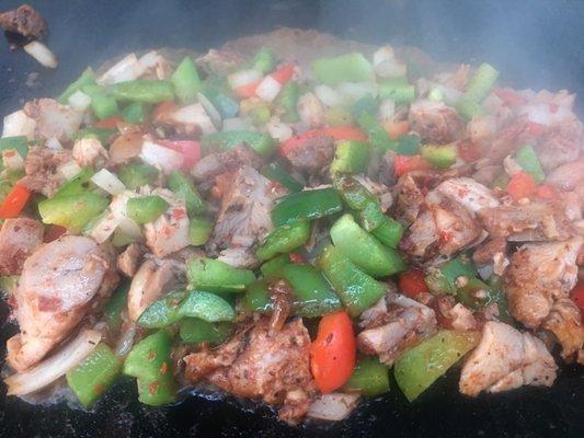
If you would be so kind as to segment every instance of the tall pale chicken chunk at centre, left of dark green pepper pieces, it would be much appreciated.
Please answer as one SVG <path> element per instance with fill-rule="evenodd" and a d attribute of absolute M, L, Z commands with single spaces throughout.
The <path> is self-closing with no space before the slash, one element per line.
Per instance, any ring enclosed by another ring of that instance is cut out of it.
<path fill-rule="evenodd" d="M 229 261 L 238 267 L 251 267 L 256 264 L 252 249 L 272 230 L 270 211 L 272 204 L 282 195 L 270 180 L 262 176 L 249 165 L 237 171 L 231 184 L 224 194 L 221 208 L 207 243 L 207 249 L 219 253 L 227 249 L 239 249 L 240 257 L 232 256 Z"/>

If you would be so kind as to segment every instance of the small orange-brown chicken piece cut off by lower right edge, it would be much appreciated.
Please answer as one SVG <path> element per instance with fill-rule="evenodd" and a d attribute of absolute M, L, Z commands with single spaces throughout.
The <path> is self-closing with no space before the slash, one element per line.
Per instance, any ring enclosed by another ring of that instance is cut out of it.
<path fill-rule="evenodd" d="M 556 300 L 541 326 L 556 335 L 562 346 L 564 359 L 574 356 L 584 346 L 582 314 L 570 298 Z"/>

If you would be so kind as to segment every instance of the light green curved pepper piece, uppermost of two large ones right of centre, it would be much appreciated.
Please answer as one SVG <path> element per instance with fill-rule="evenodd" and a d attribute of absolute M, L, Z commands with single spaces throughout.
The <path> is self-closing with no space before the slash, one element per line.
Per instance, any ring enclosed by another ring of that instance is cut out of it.
<path fill-rule="evenodd" d="M 344 256 L 374 277 L 393 275 L 408 267 L 400 253 L 383 246 L 362 229 L 351 215 L 344 215 L 332 226 L 331 240 Z"/>

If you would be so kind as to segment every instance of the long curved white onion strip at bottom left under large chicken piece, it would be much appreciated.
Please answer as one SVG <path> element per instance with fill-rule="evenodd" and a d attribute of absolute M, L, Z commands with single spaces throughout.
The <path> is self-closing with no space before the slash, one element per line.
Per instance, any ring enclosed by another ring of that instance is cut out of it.
<path fill-rule="evenodd" d="M 53 383 L 89 356 L 98 346 L 102 334 L 95 330 L 82 330 L 60 351 L 43 360 L 27 371 L 4 379 L 9 395 L 25 395 Z"/>

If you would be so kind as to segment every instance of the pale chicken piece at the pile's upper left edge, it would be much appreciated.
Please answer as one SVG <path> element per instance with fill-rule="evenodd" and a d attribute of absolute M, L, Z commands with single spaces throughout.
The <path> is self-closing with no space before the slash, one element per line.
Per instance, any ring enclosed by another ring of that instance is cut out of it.
<path fill-rule="evenodd" d="M 26 102 L 24 113 L 36 122 L 35 137 L 56 138 L 61 142 L 71 139 L 83 122 L 83 113 L 59 104 L 53 99 Z"/>

